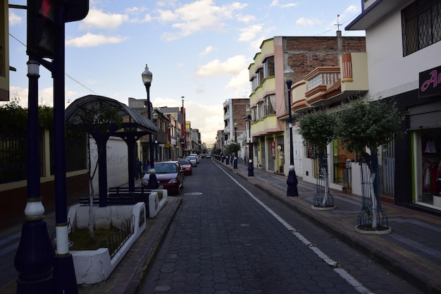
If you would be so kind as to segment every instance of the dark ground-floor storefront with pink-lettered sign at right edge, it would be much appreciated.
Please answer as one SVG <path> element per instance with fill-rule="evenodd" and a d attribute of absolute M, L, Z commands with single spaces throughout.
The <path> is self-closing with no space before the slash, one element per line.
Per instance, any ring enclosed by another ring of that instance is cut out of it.
<path fill-rule="evenodd" d="M 418 90 L 395 101 L 408 114 L 395 144 L 395 203 L 441 214 L 441 66 L 421 72 Z"/>

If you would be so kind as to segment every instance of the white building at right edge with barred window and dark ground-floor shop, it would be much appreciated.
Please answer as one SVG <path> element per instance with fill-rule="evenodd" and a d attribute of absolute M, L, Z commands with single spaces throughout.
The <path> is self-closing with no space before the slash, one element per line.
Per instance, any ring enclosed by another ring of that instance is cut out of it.
<path fill-rule="evenodd" d="M 387 151 L 395 204 L 441 215 L 441 1 L 371 0 L 361 7 L 345 29 L 366 31 L 366 96 L 395 101 L 407 114 L 406 135 Z"/>

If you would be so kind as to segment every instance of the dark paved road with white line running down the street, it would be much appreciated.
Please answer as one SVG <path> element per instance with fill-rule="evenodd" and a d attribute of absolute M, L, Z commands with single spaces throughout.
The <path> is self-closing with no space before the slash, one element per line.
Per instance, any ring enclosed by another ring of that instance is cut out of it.
<path fill-rule="evenodd" d="M 139 294 L 422 293 L 216 161 L 182 198 Z"/>

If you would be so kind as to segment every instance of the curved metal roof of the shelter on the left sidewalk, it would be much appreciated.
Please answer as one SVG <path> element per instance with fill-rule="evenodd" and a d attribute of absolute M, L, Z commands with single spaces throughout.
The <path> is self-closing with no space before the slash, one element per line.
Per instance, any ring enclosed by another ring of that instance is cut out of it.
<path fill-rule="evenodd" d="M 98 95 L 87 95 L 75 99 L 66 109 L 66 123 L 77 125 L 82 130 L 94 128 L 92 125 L 99 125 L 99 117 L 106 114 L 106 111 L 114 109 L 118 111 L 122 124 L 114 130 L 113 135 L 130 133 L 157 133 L 156 125 L 149 118 L 142 116 L 139 112 L 129 106 L 108 97 Z M 92 120 L 95 123 L 87 123 Z"/>

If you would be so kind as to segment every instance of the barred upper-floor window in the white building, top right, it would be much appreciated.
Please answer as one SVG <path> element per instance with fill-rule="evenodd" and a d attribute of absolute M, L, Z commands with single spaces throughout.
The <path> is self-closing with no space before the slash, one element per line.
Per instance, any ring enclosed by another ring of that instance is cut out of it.
<path fill-rule="evenodd" d="M 403 56 L 441 40 L 441 1 L 417 0 L 402 10 Z"/>

